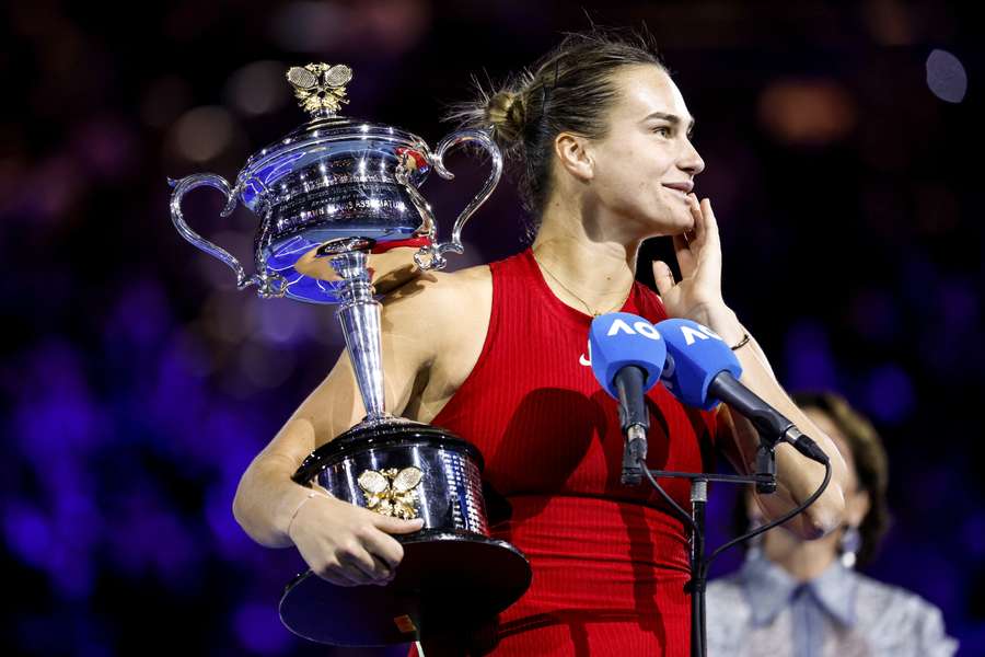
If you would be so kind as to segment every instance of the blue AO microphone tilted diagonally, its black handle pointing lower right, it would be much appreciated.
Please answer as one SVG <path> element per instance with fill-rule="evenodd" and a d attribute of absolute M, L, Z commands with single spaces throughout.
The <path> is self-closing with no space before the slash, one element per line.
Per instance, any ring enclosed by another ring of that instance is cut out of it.
<path fill-rule="evenodd" d="M 705 411 L 727 402 L 748 417 L 770 449 L 780 440 L 819 463 L 827 454 L 776 408 L 739 382 L 742 366 L 725 341 L 707 326 L 691 320 L 664 320 L 657 324 L 667 346 L 661 380 L 667 389 L 690 406 Z"/>

